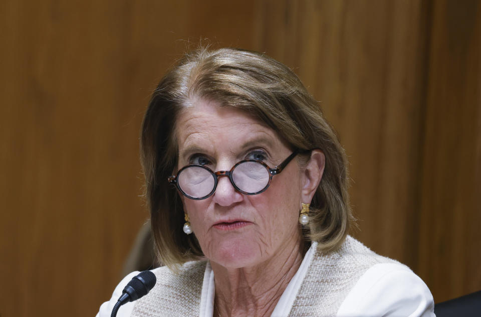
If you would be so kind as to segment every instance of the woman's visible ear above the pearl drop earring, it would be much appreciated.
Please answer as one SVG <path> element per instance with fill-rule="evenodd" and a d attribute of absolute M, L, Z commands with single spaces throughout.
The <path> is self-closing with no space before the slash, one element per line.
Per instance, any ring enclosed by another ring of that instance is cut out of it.
<path fill-rule="evenodd" d="M 321 183 L 324 173 L 326 157 L 320 149 L 313 149 L 311 157 L 307 162 L 305 170 L 302 172 L 302 194 L 301 202 L 310 204 L 316 193 L 319 183 Z"/>

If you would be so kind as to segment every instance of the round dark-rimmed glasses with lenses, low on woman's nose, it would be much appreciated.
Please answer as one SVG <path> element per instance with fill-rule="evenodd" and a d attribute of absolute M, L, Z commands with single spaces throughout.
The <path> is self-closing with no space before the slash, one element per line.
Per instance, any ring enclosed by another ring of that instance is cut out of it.
<path fill-rule="evenodd" d="M 174 184 L 185 197 L 201 200 L 215 192 L 219 176 L 227 176 L 238 192 L 257 195 L 267 190 L 271 185 L 272 177 L 281 173 L 298 152 L 295 150 L 286 160 L 272 169 L 258 160 L 240 161 L 230 171 L 218 172 L 213 172 L 203 165 L 187 165 L 181 168 L 177 175 L 169 176 L 168 182 Z"/>

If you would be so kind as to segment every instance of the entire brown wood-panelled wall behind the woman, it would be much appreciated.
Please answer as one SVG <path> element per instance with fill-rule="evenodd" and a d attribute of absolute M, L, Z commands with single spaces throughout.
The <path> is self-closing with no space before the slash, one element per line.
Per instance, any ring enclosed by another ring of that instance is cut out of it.
<path fill-rule="evenodd" d="M 0 316 L 110 297 L 148 217 L 142 115 L 200 39 L 266 52 L 321 101 L 357 238 L 436 302 L 481 289 L 480 22 L 467 0 L 0 2 Z"/>

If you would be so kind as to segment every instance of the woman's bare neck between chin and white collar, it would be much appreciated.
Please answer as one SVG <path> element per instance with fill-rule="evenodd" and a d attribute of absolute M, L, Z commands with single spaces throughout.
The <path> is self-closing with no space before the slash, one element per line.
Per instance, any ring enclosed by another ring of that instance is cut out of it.
<path fill-rule="evenodd" d="M 293 241 L 256 266 L 232 269 L 211 262 L 215 276 L 214 315 L 270 316 L 299 269 L 303 253 L 304 242 Z"/>

